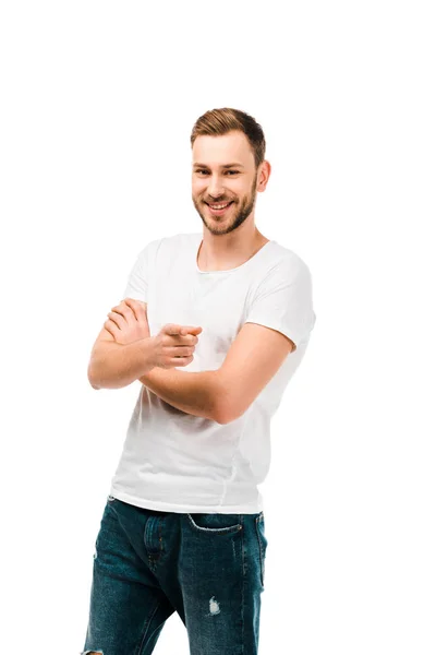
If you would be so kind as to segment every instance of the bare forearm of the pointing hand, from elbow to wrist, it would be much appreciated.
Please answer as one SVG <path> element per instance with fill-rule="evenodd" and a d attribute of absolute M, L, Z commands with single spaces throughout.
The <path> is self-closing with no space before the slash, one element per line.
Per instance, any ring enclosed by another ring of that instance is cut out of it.
<path fill-rule="evenodd" d="M 154 366 L 150 359 L 150 338 L 105 342 L 92 354 L 88 380 L 95 389 L 121 389 L 147 373 Z"/>

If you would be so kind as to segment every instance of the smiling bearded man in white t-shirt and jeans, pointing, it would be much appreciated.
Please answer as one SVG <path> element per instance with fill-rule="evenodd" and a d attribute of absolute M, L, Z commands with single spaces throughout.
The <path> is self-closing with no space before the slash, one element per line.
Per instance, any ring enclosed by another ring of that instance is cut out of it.
<path fill-rule="evenodd" d="M 257 485 L 315 323 L 311 274 L 255 226 L 271 170 L 261 126 L 214 109 L 191 145 L 203 234 L 140 252 L 89 361 L 96 389 L 142 385 L 96 540 L 84 653 L 148 655 L 174 611 L 191 654 L 258 648 Z"/>

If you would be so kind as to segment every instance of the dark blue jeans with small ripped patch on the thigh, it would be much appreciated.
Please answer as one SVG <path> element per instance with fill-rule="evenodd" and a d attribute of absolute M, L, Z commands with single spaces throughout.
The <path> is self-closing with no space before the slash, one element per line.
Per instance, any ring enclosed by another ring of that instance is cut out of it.
<path fill-rule="evenodd" d="M 182 514 L 109 496 L 82 655 L 149 655 L 174 610 L 191 655 L 257 655 L 264 512 Z"/>

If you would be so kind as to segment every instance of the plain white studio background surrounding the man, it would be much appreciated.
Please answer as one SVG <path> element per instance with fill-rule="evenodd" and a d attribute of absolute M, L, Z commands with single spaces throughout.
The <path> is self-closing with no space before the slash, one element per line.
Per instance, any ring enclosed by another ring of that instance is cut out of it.
<path fill-rule="evenodd" d="M 256 224 L 317 314 L 261 487 L 259 653 L 434 655 L 432 4 L 2 4 L 4 652 L 83 648 L 140 390 L 93 390 L 90 348 L 138 251 L 203 229 L 190 133 L 229 106 L 264 128 Z M 177 614 L 155 653 L 189 653 Z"/>

